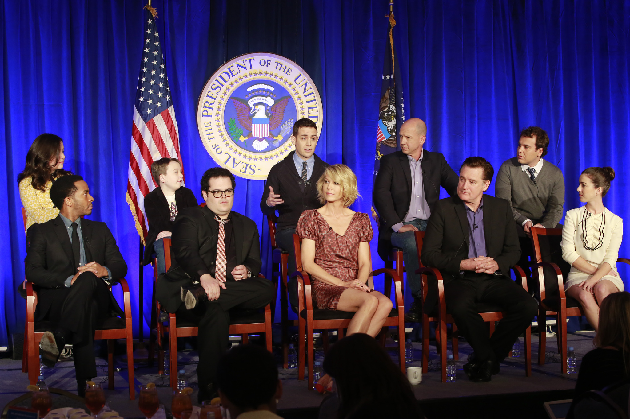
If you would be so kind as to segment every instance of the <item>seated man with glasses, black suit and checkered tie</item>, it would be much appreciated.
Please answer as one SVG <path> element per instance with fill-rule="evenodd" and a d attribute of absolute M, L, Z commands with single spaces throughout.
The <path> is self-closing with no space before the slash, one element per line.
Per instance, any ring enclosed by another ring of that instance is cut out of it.
<path fill-rule="evenodd" d="M 185 208 L 175 218 L 174 261 L 157 278 L 156 292 L 178 321 L 198 324 L 200 403 L 217 395 L 217 362 L 229 345 L 230 311 L 263 308 L 275 297 L 273 283 L 258 278 L 258 227 L 232 211 L 234 175 L 211 168 L 203 173 L 201 188 L 205 207 Z"/>

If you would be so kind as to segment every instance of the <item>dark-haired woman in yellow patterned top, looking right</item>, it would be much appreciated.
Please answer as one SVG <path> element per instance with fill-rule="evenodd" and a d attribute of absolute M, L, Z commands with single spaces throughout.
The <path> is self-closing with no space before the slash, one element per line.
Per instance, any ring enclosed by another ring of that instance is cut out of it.
<path fill-rule="evenodd" d="M 41 134 L 26 153 L 26 165 L 18 175 L 20 199 L 26 210 L 26 229 L 59 214 L 50 200 L 50 187 L 56 178 L 70 173 L 64 170 L 64 160 L 64 142 L 55 134 Z"/>

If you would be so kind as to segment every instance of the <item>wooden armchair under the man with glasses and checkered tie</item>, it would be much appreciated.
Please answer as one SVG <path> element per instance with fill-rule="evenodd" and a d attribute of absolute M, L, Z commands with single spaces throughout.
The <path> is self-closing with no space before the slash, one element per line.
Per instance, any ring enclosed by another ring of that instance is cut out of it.
<path fill-rule="evenodd" d="M 164 238 L 164 258 L 166 259 L 166 270 L 171 267 L 171 239 Z M 258 275 L 259 278 L 265 278 L 263 275 Z M 162 307 L 159 302 L 157 305 L 157 316 L 162 312 Z M 177 388 L 177 338 L 178 337 L 190 337 L 197 336 L 198 327 L 197 324 L 190 321 L 180 322 L 178 325 L 175 313 L 169 313 L 168 325 L 164 322 L 157 322 L 157 335 L 169 334 L 169 356 L 170 356 L 170 384 L 174 390 Z M 231 335 L 242 335 L 243 344 L 248 343 L 248 335 L 254 333 L 264 333 L 266 349 L 272 352 L 272 310 L 269 304 L 265 306 L 263 313 L 255 313 L 253 315 L 243 316 L 231 316 L 230 318 L 230 330 Z"/>

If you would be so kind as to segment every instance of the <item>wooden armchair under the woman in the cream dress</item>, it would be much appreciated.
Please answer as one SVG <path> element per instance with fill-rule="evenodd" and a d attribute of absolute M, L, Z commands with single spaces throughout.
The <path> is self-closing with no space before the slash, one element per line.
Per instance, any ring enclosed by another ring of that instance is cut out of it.
<path fill-rule="evenodd" d="M 566 318 L 584 315 L 580 303 L 564 293 L 564 278 L 571 266 L 562 258 L 560 242 L 562 229 L 532 227 L 532 246 L 536 263 L 532 263 L 532 276 L 538 280 L 541 302 L 538 308 L 538 364 L 545 362 L 547 316 L 556 316 L 556 340 L 561 359 L 561 372 L 566 374 Z M 630 259 L 617 262 L 630 264 Z"/>

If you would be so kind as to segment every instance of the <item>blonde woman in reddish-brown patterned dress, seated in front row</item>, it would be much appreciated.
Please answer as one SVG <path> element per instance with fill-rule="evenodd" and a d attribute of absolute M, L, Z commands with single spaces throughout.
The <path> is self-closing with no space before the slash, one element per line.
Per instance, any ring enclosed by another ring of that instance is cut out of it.
<path fill-rule="evenodd" d="M 370 217 L 348 209 L 357 199 L 357 177 L 345 165 L 329 166 L 317 183 L 323 207 L 302 213 L 302 266 L 311 276 L 318 308 L 354 312 L 348 335 L 376 336 L 392 302 L 366 284 L 372 271 Z"/>

